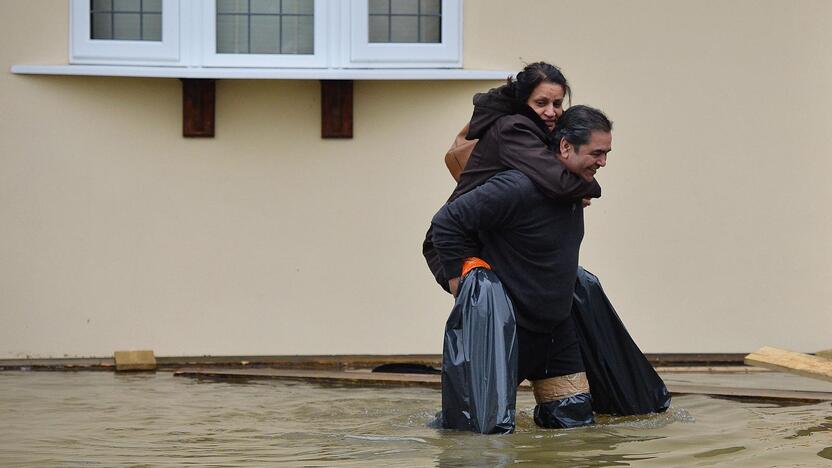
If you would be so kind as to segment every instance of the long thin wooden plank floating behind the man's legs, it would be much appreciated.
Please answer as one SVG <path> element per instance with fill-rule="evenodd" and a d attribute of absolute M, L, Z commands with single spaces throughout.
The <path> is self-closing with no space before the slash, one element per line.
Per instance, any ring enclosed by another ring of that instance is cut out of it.
<path fill-rule="evenodd" d="M 419 386 L 439 388 L 441 377 L 436 374 L 384 374 L 371 372 L 338 372 L 292 369 L 181 369 L 176 376 L 207 379 L 282 379 L 311 383 L 361 386 Z M 528 382 L 521 389 L 529 390 Z M 668 384 L 674 395 L 715 395 L 763 400 L 800 402 L 832 401 L 832 392 L 807 392 L 759 388 L 721 387 L 715 385 Z"/>

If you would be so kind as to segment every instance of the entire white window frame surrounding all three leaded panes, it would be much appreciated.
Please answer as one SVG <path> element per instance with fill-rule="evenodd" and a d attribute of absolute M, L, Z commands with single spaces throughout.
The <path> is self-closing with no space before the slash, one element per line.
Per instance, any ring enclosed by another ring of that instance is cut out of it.
<path fill-rule="evenodd" d="M 462 2 L 442 1 L 442 42 L 370 43 L 368 0 L 315 0 L 314 54 L 218 54 L 216 0 L 162 0 L 162 41 L 90 39 L 90 1 L 70 0 L 70 63 L 191 68 L 462 68 Z"/>

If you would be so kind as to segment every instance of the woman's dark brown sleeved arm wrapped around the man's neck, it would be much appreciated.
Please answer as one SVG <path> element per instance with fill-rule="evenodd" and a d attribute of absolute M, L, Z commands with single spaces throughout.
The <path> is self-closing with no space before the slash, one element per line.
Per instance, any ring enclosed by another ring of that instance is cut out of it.
<path fill-rule="evenodd" d="M 599 198 L 601 186 L 597 181 L 587 182 L 569 172 L 535 134 L 531 121 L 505 119 L 497 122 L 500 162 L 522 172 L 534 182 L 546 197 L 554 200 L 578 200 Z"/>

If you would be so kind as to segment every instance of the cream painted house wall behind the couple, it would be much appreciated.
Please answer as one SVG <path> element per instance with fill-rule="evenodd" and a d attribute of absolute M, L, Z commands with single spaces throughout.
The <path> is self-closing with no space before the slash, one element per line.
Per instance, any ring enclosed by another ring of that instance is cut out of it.
<path fill-rule="evenodd" d="M 359 81 L 321 140 L 317 82 L 225 80 L 186 140 L 176 80 L 7 72 L 66 62 L 57 4 L 0 18 L 0 358 L 440 352 L 420 242 L 493 83 Z M 552 61 L 615 120 L 582 264 L 642 348 L 832 346 L 832 4 L 513 4 L 466 3 L 465 66 Z"/>

